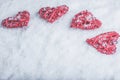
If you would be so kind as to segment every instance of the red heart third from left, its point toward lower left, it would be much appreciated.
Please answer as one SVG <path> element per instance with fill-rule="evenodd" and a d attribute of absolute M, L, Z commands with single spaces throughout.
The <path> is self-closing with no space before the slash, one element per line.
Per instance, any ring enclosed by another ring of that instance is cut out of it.
<path fill-rule="evenodd" d="M 96 19 L 91 12 L 81 11 L 72 19 L 71 27 L 80 28 L 83 30 L 92 30 L 99 28 L 102 25 L 101 21 Z"/>

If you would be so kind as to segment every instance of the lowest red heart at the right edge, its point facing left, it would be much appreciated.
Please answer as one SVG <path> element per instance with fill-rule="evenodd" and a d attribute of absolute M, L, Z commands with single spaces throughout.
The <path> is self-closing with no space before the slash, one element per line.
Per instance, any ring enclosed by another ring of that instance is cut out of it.
<path fill-rule="evenodd" d="M 116 52 L 116 43 L 120 35 L 115 32 L 102 33 L 91 39 L 87 39 L 86 42 L 96 48 L 103 54 L 113 54 Z"/>

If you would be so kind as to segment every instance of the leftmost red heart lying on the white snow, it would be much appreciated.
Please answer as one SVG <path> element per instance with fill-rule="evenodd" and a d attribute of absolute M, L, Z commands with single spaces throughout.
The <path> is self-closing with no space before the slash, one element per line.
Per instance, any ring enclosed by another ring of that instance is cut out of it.
<path fill-rule="evenodd" d="M 14 17 L 8 17 L 2 21 L 2 25 L 7 28 L 18 28 L 27 26 L 30 19 L 30 13 L 28 11 L 18 12 Z"/>

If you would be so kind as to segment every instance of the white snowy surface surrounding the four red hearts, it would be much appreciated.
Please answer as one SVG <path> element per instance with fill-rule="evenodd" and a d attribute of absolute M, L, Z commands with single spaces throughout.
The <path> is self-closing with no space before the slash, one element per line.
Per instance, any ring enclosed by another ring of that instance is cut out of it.
<path fill-rule="evenodd" d="M 63 4 L 69 11 L 53 24 L 37 14 Z M 70 28 L 74 15 L 86 9 L 102 27 Z M 0 22 L 23 10 L 31 14 L 27 28 L 0 25 L 0 80 L 120 80 L 120 40 L 113 55 L 85 42 L 103 32 L 120 33 L 120 0 L 0 0 Z"/>

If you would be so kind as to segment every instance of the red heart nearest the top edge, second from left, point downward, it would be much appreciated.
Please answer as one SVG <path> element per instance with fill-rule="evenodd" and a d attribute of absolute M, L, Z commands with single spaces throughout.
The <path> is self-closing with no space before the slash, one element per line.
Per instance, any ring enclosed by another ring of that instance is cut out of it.
<path fill-rule="evenodd" d="M 43 7 L 39 10 L 39 15 L 41 18 L 53 23 L 58 18 L 66 14 L 68 9 L 69 8 L 66 5 L 61 5 L 56 8 Z"/>

